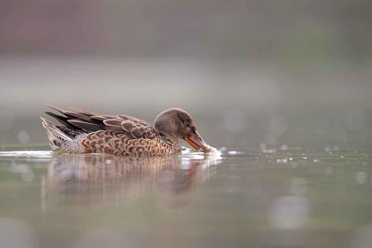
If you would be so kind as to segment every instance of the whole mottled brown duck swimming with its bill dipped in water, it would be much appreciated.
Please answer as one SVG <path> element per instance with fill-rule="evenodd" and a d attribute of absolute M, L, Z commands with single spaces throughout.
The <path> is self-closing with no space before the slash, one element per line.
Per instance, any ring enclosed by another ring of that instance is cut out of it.
<path fill-rule="evenodd" d="M 196 131 L 192 117 L 182 109 L 171 108 L 161 112 L 153 127 L 128 115 L 103 115 L 73 107 L 70 109 L 77 112 L 70 112 L 45 106 L 64 115 L 45 112 L 62 126 L 41 117 L 52 150 L 56 152 L 163 157 L 183 149 L 178 139 L 186 141 L 195 150 L 209 152 L 209 146 Z"/>

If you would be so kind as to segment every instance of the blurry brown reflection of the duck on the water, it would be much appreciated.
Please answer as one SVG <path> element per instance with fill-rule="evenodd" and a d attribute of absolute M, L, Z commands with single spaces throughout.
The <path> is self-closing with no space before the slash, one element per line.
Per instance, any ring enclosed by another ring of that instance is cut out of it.
<path fill-rule="evenodd" d="M 135 204 L 153 190 L 169 212 L 187 208 L 196 189 L 221 157 L 116 157 L 98 154 L 53 155 L 42 179 L 42 208 L 55 205 Z"/>

